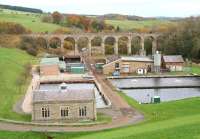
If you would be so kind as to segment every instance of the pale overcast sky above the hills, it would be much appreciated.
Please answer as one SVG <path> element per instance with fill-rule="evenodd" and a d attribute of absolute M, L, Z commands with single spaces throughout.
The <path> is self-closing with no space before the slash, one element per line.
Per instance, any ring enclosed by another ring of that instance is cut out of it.
<path fill-rule="evenodd" d="M 200 0 L 0 0 L 0 4 L 75 14 L 119 13 L 145 17 L 200 15 Z"/>

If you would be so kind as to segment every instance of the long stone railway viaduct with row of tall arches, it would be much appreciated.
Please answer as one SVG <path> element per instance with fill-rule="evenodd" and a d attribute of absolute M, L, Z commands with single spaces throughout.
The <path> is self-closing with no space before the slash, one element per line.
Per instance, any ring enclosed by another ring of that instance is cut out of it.
<path fill-rule="evenodd" d="M 118 55 L 118 41 L 122 37 L 126 37 L 128 39 L 127 42 L 127 54 L 131 55 L 131 41 L 134 38 L 140 39 L 140 55 L 146 55 L 145 48 L 144 48 L 144 41 L 146 38 L 152 39 L 152 54 L 156 52 L 157 49 L 157 40 L 158 37 L 161 36 L 160 34 L 152 34 L 152 33 L 79 33 L 79 34 L 26 34 L 23 36 L 31 36 L 35 38 L 43 38 L 46 40 L 47 45 L 49 46 L 50 40 L 56 38 L 61 43 L 61 50 L 64 50 L 64 41 L 65 39 L 72 39 L 75 45 L 75 54 L 78 54 L 78 40 L 80 38 L 86 38 L 88 40 L 88 53 L 89 55 L 92 54 L 92 40 L 96 37 L 101 38 L 101 52 L 105 55 L 105 40 L 109 37 L 114 38 L 114 54 Z"/>

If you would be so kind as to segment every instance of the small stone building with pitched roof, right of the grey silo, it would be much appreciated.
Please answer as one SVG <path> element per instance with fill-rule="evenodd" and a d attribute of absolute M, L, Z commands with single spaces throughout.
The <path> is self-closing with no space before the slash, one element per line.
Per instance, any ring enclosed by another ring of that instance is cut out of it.
<path fill-rule="evenodd" d="M 170 71 L 183 71 L 184 60 L 181 55 L 165 55 L 162 61 L 163 67 Z"/>

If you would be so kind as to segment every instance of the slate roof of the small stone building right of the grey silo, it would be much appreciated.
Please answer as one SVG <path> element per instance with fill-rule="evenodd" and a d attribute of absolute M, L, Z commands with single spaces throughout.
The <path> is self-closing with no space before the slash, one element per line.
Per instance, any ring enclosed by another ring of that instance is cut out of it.
<path fill-rule="evenodd" d="M 184 63 L 183 57 L 181 55 L 166 55 L 163 56 L 163 60 L 166 63 Z"/>

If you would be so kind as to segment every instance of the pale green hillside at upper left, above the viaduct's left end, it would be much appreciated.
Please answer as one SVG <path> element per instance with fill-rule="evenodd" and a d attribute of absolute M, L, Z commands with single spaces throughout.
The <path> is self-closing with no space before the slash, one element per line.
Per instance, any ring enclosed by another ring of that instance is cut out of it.
<path fill-rule="evenodd" d="M 61 27 L 59 25 L 41 22 L 40 16 L 40 14 L 16 12 L 5 9 L 0 11 L 0 21 L 16 22 L 33 32 L 53 32 Z"/>

